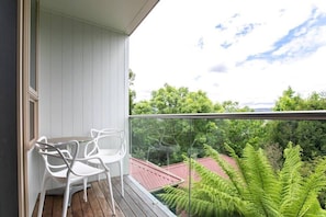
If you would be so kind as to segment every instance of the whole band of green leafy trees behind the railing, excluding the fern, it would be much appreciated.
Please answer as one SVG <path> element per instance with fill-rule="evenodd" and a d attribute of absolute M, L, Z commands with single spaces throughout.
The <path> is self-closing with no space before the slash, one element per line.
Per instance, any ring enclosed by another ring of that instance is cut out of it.
<path fill-rule="evenodd" d="M 131 71 L 132 72 L 132 71 Z M 135 75 L 130 77 L 135 79 Z M 134 102 L 131 92 L 131 114 L 194 114 L 255 112 L 237 102 L 213 103 L 203 91 L 190 92 L 188 88 L 165 84 L 153 91 L 148 101 Z M 326 110 L 325 93 L 311 93 L 307 98 L 296 94 L 291 87 L 283 91 L 274 112 Z M 268 121 L 268 119 L 172 119 L 132 118 L 132 155 L 158 165 L 183 161 L 182 156 L 201 158 L 206 153 L 204 144 L 226 153 L 227 144 L 241 157 L 247 144 L 267 153 L 272 168 L 278 171 L 284 161 L 282 152 L 289 142 L 302 148 L 304 167 L 301 172 L 308 175 L 316 160 L 326 153 L 325 121 Z M 319 202 L 325 207 L 326 194 Z"/>

